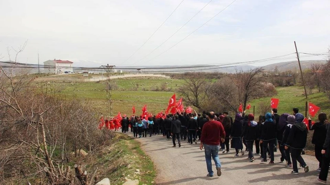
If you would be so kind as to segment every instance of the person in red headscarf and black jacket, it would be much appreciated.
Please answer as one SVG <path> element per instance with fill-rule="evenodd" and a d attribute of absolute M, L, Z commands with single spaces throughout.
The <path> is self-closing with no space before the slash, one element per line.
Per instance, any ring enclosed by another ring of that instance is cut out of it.
<path fill-rule="evenodd" d="M 250 162 L 254 161 L 253 142 L 257 138 L 257 125 L 258 123 L 254 121 L 253 114 L 249 114 L 248 123 L 244 127 L 243 137 L 248 145 L 248 158 Z"/>

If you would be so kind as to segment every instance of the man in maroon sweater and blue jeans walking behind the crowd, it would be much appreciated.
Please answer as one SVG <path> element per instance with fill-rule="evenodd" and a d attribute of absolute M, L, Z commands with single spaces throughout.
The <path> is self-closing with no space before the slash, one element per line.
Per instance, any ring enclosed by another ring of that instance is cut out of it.
<path fill-rule="evenodd" d="M 217 175 L 221 175 L 221 163 L 218 152 L 220 149 L 220 140 L 224 142 L 226 135 L 221 122 L 215 121 L 214 119 L 214 112 L 210 112 L 209 122 L 205 123 L 203 126 L 201 144 L 199 146 L 199 149 L 202 150 L 204 144 L 206 167 L 209 172 L 207 176 L 209 177 L 213 177 L 211 157 L 215 162 Z"/>

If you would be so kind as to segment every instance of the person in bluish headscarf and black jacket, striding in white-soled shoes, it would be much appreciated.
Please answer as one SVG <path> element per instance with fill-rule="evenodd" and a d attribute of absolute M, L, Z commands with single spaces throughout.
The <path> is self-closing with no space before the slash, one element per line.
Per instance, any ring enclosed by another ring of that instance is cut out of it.
<path fill-rule="evenodd" d="M 307 141 L 307 127 L 303 122 L 304 116 L 300 113 L 295 115 L 296 121 L 291 127 L 287 141 L 285 142 L 285 149 L 290 147 L 291 158 L 292 158 L 292 169 L 291 173 L 299 174 L 297 167 L 297 160 L 304 168 L 305 173 L 309 171 L 308 165 L 301 157 L 301 152 L 306 146 Z"/>

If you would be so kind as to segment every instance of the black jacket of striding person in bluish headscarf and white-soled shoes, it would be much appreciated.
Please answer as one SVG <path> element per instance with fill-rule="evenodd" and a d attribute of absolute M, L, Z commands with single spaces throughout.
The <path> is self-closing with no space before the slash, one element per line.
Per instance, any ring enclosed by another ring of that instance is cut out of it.
<path fill-rule="evenodd" d="M 307 132 L 305 123 L 295 123 L 290 130 L 285 145 L 292 149 L 304 149 L 307 141 Z"/>

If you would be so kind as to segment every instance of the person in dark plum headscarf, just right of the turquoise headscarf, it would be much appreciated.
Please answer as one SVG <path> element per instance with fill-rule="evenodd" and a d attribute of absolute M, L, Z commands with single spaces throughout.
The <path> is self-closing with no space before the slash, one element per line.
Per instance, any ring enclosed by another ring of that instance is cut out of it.
<path fill-rule="evenodd" d="M 285 151 L 284 151 L 284 145 L 281 145 L 281 142 L 283 140 L 283 132 L 285 130 L 285 126 L 288 124 L 288 116 L 290 114 L 284 113 L 281 114 L 281 116 L 279 117 L 278 123 L 277 125 L 277 140 L 279 142 L 280 145 L 280 152 L 281 152 L 281 163 L 284 162 L 284 160 L 287 161 L 286 159 L 286 155 L 285 155 Z M 276 116 L 275 116 L 276 118 Z"/>

